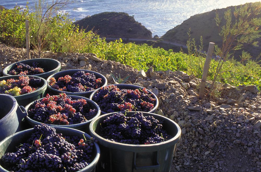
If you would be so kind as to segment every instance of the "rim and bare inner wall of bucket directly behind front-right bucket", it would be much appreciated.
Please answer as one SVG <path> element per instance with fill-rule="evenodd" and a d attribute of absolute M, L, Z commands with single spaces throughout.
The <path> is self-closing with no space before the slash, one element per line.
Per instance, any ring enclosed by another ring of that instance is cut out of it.
<path fill-rule="evenodd" d="M 129 90 L 136 90 L 136 89 L 139 89 L 139 88 L 144 88 L 144 87 L 140 87 L 140 86 L 137 86 L 137 85 L 131 85 L 131 84 L 112 84 L 112 85 L 115 85 L 117 86 L 117 88 L 120 88 L 120 89 L 129 89 Z M 109 85 L 108 85 L 109 86 Z M 99 88 L 98 90 L 94 91 L 91 96 L 90 96 L 90 99 L 92 100 L 92 97 L 94 96 L 94 94 L 96 94 L 97 91 L 101 90 L 101 88 Z M 154 106 L 154 108 L 152 110 L 149 111 L 149 113 L 154 113 L 156 112 L 157 108 L 158 108 L 158 105 L 159 105 L 159 100 L 157 98 L 157 96 L 151 92 L 150 90 L 147 90 L 150 94 L 152 94 L 152 97 L 156 99 L 156 104 Z M 101 114 L 104 115 L 104 114 L 107 114 L 106 112 L 104 111 L 101 111 Z"/>

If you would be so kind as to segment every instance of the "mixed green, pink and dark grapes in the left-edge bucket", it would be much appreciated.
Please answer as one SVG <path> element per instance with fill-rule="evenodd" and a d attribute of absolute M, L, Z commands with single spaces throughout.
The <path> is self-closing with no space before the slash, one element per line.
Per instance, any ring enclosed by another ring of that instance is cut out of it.
<path fill-rule="evenodd" d="M 28 76 L 19 76 L 19 79 L 7 79 L 0 81 L 0 94 L 19 96 L 37 90 L 41 85 L 41 79 Z"/>

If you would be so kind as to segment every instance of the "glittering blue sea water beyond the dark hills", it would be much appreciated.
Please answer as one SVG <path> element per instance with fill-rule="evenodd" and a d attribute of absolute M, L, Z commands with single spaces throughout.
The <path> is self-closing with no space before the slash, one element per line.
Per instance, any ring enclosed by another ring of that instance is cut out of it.
<path fill-rule="evenodd" d="M 77 0 L 63 12 L 80 20 L 86 16 L 105 11 L 125 12 L 152 32 L 162 36 L 169 29 L 181 24 L 195 14 L 217 8 L 240 5 L 257 0 Z M 26 0 L 0 0 L 0 5 L 13 8 L 15 4 L 25 7 Z M 32 5 L 31 0 L 29 6 Z M 30 9 L 33 9 L 32 7 Z"/>

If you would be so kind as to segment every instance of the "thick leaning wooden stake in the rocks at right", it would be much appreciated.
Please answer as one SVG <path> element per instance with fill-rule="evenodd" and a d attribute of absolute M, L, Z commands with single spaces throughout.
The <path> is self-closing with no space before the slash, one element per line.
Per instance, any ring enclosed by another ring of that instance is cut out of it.
<path fill-rule="evenodd" d="M 210 42 L 209 49 L 207 50 L 207 57 L 206 57 L 206 61 L 204 64 L 204 69 L 203 69 L 203 74 L 202 74 L 202 79 L 201 79 L 201 84 L 200 84 L 200 89 L 199 89 L 199 99 L 203 99 L 203 97 L 204 97 L 207 73 L 209 72 L 209 65 L 210 65 L 210 60 L 212 58 L 214 45 L 215 45 L 215 43 Z"/>

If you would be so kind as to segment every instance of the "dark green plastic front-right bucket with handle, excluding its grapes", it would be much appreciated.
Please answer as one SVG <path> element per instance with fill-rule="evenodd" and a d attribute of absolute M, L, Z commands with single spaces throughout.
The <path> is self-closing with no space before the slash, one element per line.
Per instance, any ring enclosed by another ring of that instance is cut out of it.
<path fill-rule="evenodd" d="M 164 120 L 163 128 L 173 138 L 150 145 L 116 143 L 98 135 L 100 123 L 115 113 L 117 112 L 102 115 L 90 124 L 90 135 L 98 139 L 101 150 L 98 171 L 170 171 L 175 145 L 181 135 L 178 124 L 164 116 L 142 112 L 144 116 L 150 115 L 159 121 Z M 135 112 L 127 112 L 127 116 L 133 113 Z"/>

